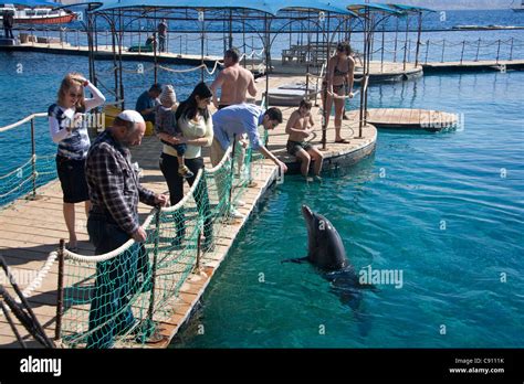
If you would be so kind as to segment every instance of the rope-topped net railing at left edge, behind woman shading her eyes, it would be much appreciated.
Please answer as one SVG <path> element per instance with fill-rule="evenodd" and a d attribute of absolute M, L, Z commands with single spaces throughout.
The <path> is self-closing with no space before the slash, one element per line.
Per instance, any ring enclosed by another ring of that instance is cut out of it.
<path fill-rule="evenodd" d="M 33 114 L 0 127 L 0 138 L 7 143 L 7 150 L 2 153 L 7 157 L 2 157 L 3 164 L 0 166 L 0 210 L 20 196 L 30 193 L 34 196 L 38 186 L 56 178 L 55 156 L 36 153 L 36 128 L 40 130 L 43 127 L 35 127 L 35 119 L 42 117 L 46 118 L 48 114 Z M 23 127 L 27 125 L 30 126 L 29 135 Z M 17 143 L 15 149 L 9 149 L 10 141 Z"/>

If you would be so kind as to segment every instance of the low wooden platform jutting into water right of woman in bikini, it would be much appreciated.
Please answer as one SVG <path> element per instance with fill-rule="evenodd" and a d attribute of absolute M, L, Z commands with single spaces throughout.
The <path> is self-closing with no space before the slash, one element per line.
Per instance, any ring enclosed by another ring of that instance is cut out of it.
<path fill-rule="evenodd" d="M 349 119 L 358 118 L 358 111 L 352 111 Z M 439 110 L 408 108 L 371 108 L 367 120 L 377 128 L 421 129 L 437 131 L 457 126 L 459 116 Z"/>

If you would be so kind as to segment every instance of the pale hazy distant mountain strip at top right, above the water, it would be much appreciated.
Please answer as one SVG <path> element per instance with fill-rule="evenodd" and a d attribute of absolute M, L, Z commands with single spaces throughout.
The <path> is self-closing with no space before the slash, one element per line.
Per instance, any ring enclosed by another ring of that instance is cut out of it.
<path fill-rule="evenodd" d="M 518 1 L 514 0 L 373 0 L 378 3 L 399 3 L 426 7 L 434 10 L 475 10 L 475 9 L 510 9 Z M 515 3 L 515 4 L 513 4 Z"/>

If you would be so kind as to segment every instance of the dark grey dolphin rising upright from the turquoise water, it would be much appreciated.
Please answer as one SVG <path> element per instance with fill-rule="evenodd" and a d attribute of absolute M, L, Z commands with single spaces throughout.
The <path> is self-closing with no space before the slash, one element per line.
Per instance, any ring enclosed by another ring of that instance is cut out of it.
<path fill-rule="evenodd" d="M 366 335 L 370 323 L 368 316 L 361 310 L 361 289 L 376 288 L 359 282 L 355 268 L 347 258 L 340 235 L 325 216 L 313 212 L 307 205 L 302 205 L 302 215 L 307 227 L 307 256 L 284 262 L 308 262 L 314 265 L 331 282 L 329 291 L 354 310 L 360 334 Z"/>

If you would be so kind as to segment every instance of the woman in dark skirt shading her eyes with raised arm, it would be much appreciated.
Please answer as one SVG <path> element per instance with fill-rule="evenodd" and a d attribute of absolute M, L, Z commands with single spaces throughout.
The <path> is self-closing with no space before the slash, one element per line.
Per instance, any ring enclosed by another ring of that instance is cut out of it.
<path fill-rule="evenodd" d="M 84 88 L 93 98 L 84 98 Z M 59 145 L 56 170 L 64 193 L 63 213 L 70 236 L 66 248 L 73 252 L 77 242 L 74 204 L 85 202 L 85 213 L 90 211 L 84 166 L 91 142 L 85 113 L 104 102 L 104 95 L 93 84 L 77 73 L 70 73 L 62 81 L 57 102 L 48 109 L 51 137 Z"/>

